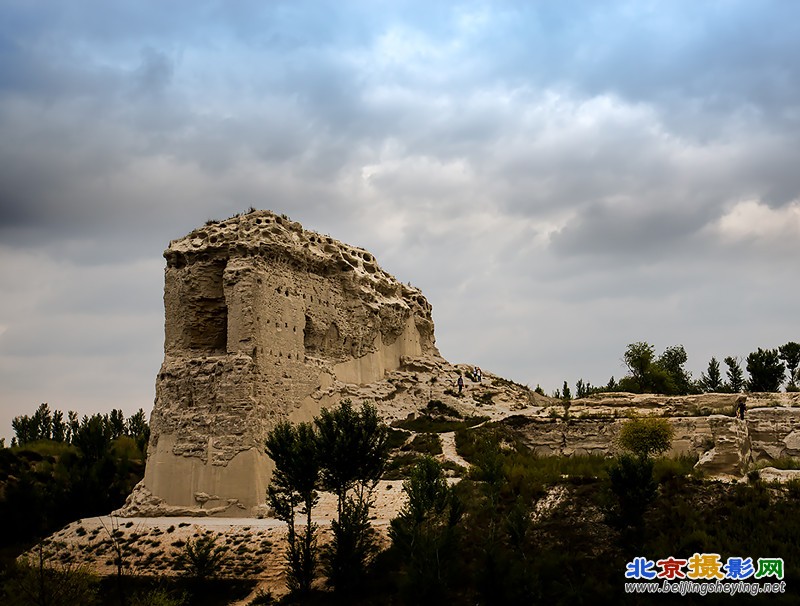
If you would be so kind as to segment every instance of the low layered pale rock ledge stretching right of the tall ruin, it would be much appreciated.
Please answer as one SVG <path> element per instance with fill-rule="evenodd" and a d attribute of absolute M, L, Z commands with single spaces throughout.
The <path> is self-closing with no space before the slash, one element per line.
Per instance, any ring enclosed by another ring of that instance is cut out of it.
<path fill-rule="evenodd" d="M 739 403 L 746 419 L 733 416 Z M 708 477 L 743 477 L 756 465 L 800 458 L 800 410 L 796 394 L 702 394 L 659 396 L 610 393 L 551 401 L 528 408 L 503 423 L 542 455 L 617 452 L 619 428 L 632 416 L 665 417 L 674 429 L 671 456 L 698 457 L 697 469 Z"/>

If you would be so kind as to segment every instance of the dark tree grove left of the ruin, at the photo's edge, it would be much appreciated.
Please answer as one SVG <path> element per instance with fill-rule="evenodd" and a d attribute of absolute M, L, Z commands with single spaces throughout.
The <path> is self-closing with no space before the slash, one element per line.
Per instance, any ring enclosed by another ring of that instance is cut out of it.
<path fill-rule="evenodd" d="M 68 522 L 121 507 L 144 475 L 150 428 L 142 410 L 79 420 L 41 404 L 12 426 L 12 446 L 0 448 L 0 548 L 24 549 Z"/>

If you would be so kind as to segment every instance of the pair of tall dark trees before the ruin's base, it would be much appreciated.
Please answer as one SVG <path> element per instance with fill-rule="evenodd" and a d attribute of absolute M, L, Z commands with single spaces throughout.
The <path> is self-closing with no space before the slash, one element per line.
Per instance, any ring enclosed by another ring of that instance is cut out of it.
<path fill-rule="evenodd" d="M 312 423 L 279 423 L 268 435 L 265 450 L 275 462 L 267 500 L 288 526 L 288 584 L 307 594 L 324 565 L 328 582 L 340 593 L 352 591 L 377 552 L 369 523 L 372 493 L 388 458 L 388 428 L 368 403 L 356 410 L 350 400 L 323 410 Z M 318 491 L 337 496 L 337 517 L 331 522 L 330 545 L 317 547 L 312 509 Z M 295 527 L 295 516 L 306 525 Z"/>

